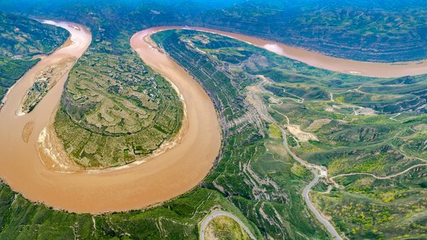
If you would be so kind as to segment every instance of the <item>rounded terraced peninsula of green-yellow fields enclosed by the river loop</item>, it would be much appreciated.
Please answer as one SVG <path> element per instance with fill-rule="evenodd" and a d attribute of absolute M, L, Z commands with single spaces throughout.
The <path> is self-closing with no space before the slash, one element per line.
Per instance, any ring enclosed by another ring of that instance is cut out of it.
<path fill-rule="evenodd" d="M 182 103 L 171 84 L 130 50 L 120 53 L 102 43 L 92 47 L 62 94 L 55 132 L 82 168 L 143 159 L 172 141 L 182 125 Z"/>

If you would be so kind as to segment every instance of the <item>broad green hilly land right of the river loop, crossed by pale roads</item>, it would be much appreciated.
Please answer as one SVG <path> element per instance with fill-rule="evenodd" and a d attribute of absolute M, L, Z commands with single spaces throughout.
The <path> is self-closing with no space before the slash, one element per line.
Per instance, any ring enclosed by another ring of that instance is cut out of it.
<path fill-rule="evenodd" d="M 190 30 L 167 30 L 155 39 L 201 81 L 222 113 L 224 153 L 206 182 L 265 227 L 262 232 L 273 236 L 261 219 L 271 217 L 270 224 L 278 229 L 287 225 L 283 222 L 293 223 L 292 217 L 277 210 L 284 196 L 299 198 L 299 203 L 292 200 L 293 209 L 297 204 L 304 208 L 301 183 L 282 185 L 281 177 L 306 178 L 306 169 L 292 161 L 277 162 L 267 144 L 271 137 L 282 137 L 275 127 L 278 122 L 291 134 L 288 142 L 296 154 L 328 168 L 328 177 L 316 185 L 311 199 L 345 236 L 426 236 L 427 76 L 374 79 L 338 74 L 237 40 Z M 239 97 L 224 96 L 225 92 Z M 244 143 L 236 140 L 242 133 L 248 136 Z M 275 149 L 284 152 L 279 142 Z M 239 163 L 234 159 L 239 153 L 243 154 L 239 159 L 250 160 Z M 279 167 L 287 163 L 289 172 Z M 354 173 L 362 174 L 342 175 Z M 281 197 L 269 189 L 282 192 Z M 267 205 L 272 211 L 263 209 Z M 275 224 L 272 219 L 282 220 Z M 298 229 L 297 224 L 294 227 Z M 274 236 L 287 236 L 288 231 Z"/>

